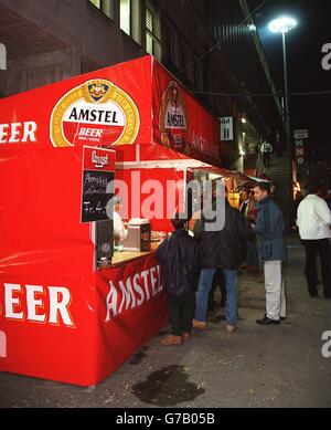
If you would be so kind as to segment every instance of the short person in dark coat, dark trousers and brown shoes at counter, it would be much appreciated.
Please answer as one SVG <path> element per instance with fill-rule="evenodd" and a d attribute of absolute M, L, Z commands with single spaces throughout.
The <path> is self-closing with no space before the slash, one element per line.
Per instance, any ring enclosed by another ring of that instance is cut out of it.
<path fill-rule="evenodd" d="M 169 297 L 171 335 L 161 344 L 181 345 L 192 329 L 195 290 L 200 274 L 197 243 L 185 230 L 185 220 L 177 213 L 171 220 L 174 231 L 158 248 L 156 258 L 166 266 L 166 291 Z"/>

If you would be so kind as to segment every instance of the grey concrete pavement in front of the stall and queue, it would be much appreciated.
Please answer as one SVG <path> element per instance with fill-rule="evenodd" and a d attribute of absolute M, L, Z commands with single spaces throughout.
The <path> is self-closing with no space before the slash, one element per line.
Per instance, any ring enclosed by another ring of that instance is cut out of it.
<path fill-rule="evenodd" d="M 163 347 L 160 333 L 96 388 L 0 373 L 0 407 L 331 407 L 331 358 L 321 354 L 331 301 L 321 289 L 320 297 L 308 295 L 303 249 L 295 237 L 287 242 L 288 317 L 280 325 L 255 323 L 265 312 L 263 277 L 242 272 L 235 334 L 225 333 L 218 308 L 184 345 Z"/>

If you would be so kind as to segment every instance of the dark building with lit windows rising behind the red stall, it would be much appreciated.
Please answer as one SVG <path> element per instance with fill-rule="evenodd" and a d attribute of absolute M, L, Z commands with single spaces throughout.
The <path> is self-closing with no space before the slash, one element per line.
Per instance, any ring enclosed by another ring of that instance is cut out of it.
<path fill-rule="evenodd" d="M 0 0 L 2 96 L 150 53 L 216 117 L 233 117 L 224 165 L 244 169 L 281 124 L 245 0 Z M 250 28 L 252 30 L 252 28 Z M 245 124 L 242 119 L 245 118 Z"/>

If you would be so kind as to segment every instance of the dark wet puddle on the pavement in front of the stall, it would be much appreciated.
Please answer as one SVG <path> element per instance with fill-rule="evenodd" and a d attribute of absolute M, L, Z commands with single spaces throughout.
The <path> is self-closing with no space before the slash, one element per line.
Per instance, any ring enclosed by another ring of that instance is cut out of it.
<path fill-rule="evenodd" d="M 204 394 L 204 388 L 190 382 L 184 366 L 162 367 L 150 374 L 143 382 L 136 384 L 131 392 L 141 401 L 159 407 L 192 401 Z"/>

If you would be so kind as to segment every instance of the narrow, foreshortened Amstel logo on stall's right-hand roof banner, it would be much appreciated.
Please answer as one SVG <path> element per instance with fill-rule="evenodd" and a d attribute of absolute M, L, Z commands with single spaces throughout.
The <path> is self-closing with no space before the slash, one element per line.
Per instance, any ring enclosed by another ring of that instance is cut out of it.
<path fill-rule="evenodd" d="M 189 155 L 189 124 L 185 101 L 177 82 L 170 82 L 160 109 L 161 140 L 164 146 Z"/>

